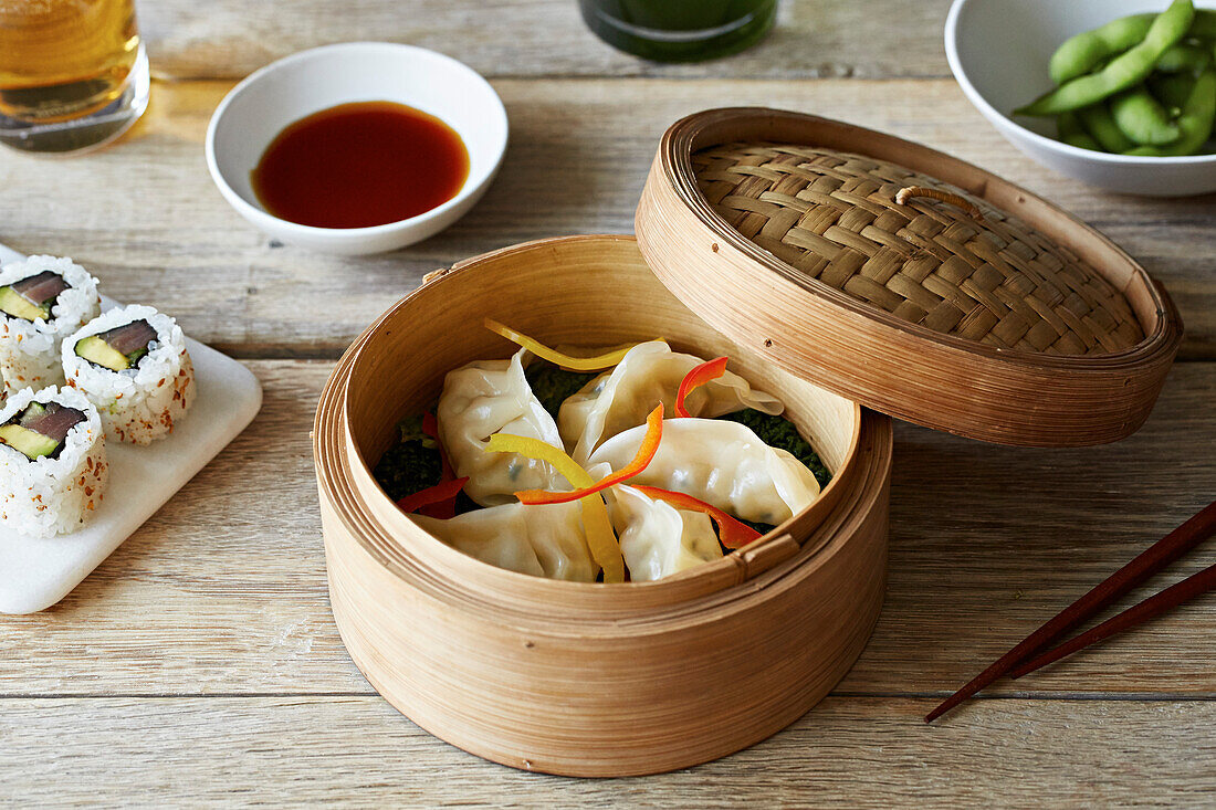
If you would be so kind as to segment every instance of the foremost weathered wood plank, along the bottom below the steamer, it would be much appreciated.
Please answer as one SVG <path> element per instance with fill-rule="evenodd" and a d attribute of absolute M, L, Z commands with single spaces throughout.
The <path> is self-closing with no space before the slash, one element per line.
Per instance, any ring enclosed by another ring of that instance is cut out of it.
<path fill-rule="evenodd" d="M 748 750 L 674 774 L 575 780 L 466 754 L 371 697 L 0 701 L 13 806 L 1162 806 L 1210 804 L 1211 702 L 828 698 Z M 2 800 L 0 800 L 2 801 Z"/>

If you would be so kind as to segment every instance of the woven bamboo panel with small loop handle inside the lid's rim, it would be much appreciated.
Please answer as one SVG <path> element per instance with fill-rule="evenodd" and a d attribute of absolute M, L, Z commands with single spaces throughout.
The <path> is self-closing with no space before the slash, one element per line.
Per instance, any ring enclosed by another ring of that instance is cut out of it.
<path fill-rule="evenodd" d="M 1081 258 L 928 175 L 782 144 L 714 146 L 693 153 L 692 168 L 743 236 L 911 324 L 1060 355 L 1121 351 L 1144 337 L 1124 294 Z"/>

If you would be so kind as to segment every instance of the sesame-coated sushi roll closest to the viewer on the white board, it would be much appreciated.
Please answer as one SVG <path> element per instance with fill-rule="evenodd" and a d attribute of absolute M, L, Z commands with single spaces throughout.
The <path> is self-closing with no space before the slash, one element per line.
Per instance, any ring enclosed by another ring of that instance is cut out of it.
<path fill-rule="evenodd" d="M 73 531 L 101 505 L 106 438 L 71 388 L 23 388 L 0 409 L 0 527 L 33 538 Z"/>

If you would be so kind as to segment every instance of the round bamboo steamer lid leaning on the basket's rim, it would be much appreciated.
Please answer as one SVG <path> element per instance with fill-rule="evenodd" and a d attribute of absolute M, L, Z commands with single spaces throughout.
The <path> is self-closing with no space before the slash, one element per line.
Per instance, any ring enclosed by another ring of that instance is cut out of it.
<path fill-rule="evenodd" d="M 1121 439 L 1181 342 L 1166 292 L 1083 223 L 962 161 L 815 116 L 677 122 L 636 229 L 655 275 L 728 337 L 975 439 Z"/>

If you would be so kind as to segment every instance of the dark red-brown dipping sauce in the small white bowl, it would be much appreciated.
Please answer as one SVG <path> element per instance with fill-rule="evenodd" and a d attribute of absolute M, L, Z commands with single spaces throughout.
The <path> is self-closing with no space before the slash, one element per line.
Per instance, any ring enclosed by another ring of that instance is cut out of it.
<path fill-rule="evenodd" d="M 370 227 L 417 216 L 468 179 L 456 131 L 390 101 L 338 105 L 281 131 L 249 174 L 275 216 L 314 227 Z"/>

